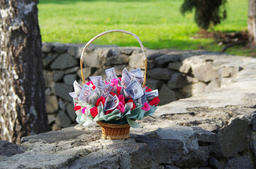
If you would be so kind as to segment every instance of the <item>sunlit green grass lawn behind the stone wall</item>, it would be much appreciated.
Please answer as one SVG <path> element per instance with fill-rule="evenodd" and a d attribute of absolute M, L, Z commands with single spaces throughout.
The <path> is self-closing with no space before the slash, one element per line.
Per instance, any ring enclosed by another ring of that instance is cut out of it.
<path fill-rule="evenodd" d="M 182 0 L 39 0 L 42 42 L 84 43 L 105 30 L 128 30 L 150 49 L 206 49 L 220 51 L 213 39 L 194 38 L 199 28 L 194 15 L 180 14 Z M 228 0 L 228 18 L 216 26 L 219 31 L 247 29 L 248 0 Z M 132 36 L 112 33 L 95 44 L 138 46 Z M 247 55 L 239 46 L 230 54 Z"/>

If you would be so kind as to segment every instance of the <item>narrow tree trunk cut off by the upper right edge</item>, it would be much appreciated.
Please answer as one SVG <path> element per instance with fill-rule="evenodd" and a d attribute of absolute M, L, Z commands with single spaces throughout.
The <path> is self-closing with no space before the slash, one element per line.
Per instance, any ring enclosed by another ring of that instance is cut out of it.
<path fill-rule="evenodd" d="M 252 49 L 256 49 L 256 0 L 249 1 L 248 35 Z"/>

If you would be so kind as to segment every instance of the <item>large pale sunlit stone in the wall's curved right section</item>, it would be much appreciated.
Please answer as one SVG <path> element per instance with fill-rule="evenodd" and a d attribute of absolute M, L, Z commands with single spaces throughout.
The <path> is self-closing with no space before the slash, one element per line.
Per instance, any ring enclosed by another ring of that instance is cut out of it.
<path fill-rule="evenodd" d="M 199 64 L 192 67 L 192 73 L 197 80 L 202 82 L 209 82 L 218 77 L 218 73 L 214 70 L 211 63 Z"/>

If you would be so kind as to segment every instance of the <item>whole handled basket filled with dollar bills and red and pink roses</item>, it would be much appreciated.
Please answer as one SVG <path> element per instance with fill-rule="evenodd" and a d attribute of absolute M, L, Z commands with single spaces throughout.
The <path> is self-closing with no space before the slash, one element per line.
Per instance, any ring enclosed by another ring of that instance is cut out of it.
<path fill-rule="evenodd" d="M 90 42 L 86 46 L 89 44 Z M 82 57 L 83 54 L 81 70 Z M 144 61 L 146 64 L 146 60 Z M 140 68 L 130 72 L 124 68 L 122 77 L 115 75 L 114 68 L 105 70 L 105 73 L 106 80 L 101 76 L 94 76 L 89 77 L 91 81 L 86 82 L 81 71 L 83 87 L 74 82 L 74 92 L 69 94 L 74 99 L 76 121 L 83 126 L 97 122 L 102 127 L 104 139 L 124 139 L 129 137 L 130 127 L 140 127 L 136 120 L 142 120 L 156 111 L 159 103 L 158 90 L 152 91 L 145 86 L 146 66 L 144 76 Z"/>

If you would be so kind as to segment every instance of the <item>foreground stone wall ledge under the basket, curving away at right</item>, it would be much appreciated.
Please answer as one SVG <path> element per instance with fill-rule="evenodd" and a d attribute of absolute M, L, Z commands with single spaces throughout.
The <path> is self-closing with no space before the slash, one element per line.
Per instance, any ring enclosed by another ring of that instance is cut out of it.
<path fill-rule="evenodd" d="M 100 139 L 93 124 L 23 137 L 21 145 L 0 141 L 0 168 L 255 168 L 256 58 L 204 54 L 185 61 L 192 72 L 199 61 L 219 65 L 217 72 L 240 71 L 222 77 L 220 88 L 158 106 L 129 139 Z"/>

